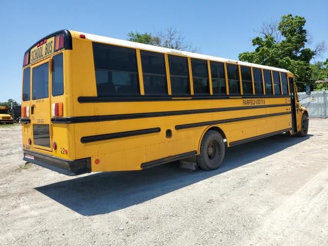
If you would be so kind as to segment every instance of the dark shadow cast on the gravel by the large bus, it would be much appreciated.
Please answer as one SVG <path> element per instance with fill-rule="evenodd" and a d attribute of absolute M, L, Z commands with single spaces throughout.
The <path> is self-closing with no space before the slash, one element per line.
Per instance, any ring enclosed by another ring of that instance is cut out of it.
<path fill-rule="evenodd" d="M 276 135 L 228 148 L 222 166 L 211 172 L 179 171 L 177 162 L 172 162 L 142 171 L 96 173 L 35 189 L 81 215 L 107 214 L 247 165 L 312 136 Z"/>

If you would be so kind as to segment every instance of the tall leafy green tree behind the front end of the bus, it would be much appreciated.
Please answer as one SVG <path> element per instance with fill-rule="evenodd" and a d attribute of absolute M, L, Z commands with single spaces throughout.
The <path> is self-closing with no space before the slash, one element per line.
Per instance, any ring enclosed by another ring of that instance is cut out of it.
<path fill-rule="evenodd" d="M 252 40 L 255 50 L 239 54 L 239 60 L 261 65 L 284 68 L 295 75 L 299 89 L 311 83 L 310 60 L 325 50 L 325 43 L 310 49 L 311 36 L 304 29 L 305 18 L 283 15 L 279 23 L 263 23 L 260 36 Z M 312 81 L 313 83 L 313 81 Z"/>

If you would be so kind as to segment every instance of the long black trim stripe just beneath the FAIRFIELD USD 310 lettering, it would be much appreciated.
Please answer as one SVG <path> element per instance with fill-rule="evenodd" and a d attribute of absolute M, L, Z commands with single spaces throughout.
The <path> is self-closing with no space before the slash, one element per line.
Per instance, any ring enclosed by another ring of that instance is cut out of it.
<path fill-rule="evenodd" d="M 109 120 L 121 120 L 121 119 L 137 119 L 137 118 L 148 118 L 148 117 L 159 117 L 159 116 L 212 113 L 212 112 L 222 112 L 222 111 L 232 111 L 232 110 L 273 108 L 273 107 L 283 107 L 283 106 L 290 106 L 290 104 L 257 105 L 257 106 L 244 106 L 244 107 L 195 109 L 195 110 L 181 110 L 181 111 L 168 111 L 168 112 L 135 113 L 135 114 L 63 117 L 63 118 L 52 118 L 51 122 L 69 124 L 69 123 L 83 123 L 83 122 L 109 121 Z"/>

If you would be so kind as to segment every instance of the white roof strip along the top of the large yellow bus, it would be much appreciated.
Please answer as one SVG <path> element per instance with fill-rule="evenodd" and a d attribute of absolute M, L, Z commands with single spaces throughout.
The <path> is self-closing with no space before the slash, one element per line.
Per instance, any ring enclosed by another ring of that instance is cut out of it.
<path fill-rule="evenodd" d="M 216 56 L 211 56 L 211 55 L 192 53 L 192 52 L 188 52 L 188 51 L 168 49 L 168 48 L 163 48 L 163 47 L 154 46 L 154 45 L 140 44 L 140 43 L 131 42 L 131 41 L 123 40 L 123 39 L 99 36 L 99 35 L 94 35 L 94 34 L 90 34 L 90 33 L 84 33 L 84 32 L 79 32 L 79 33 L 85 34 L 87 39 L 90 39 L 94 42 L 126 46 L 126 47 L 130 47 L 130 48 L 135 48 L 135 49 L 161 52 L 161 53 L 167 53 L 167 54 L 173 54 L 173 55 L 174 54 L 185 55 L 185 56 L 189 56 L 192 58 L 220 61 L 222 63 L 234 63 L 234 64 L 238 64 L 238 65 L 242 65 L 242 66 L 250 66 L 250 67 L 254 67 L 254 68 L 270 69 L 270 70 L 274 70 L 274 71 L 290 73 L 290 71 L 282 69 L 282 68 L 269 67 L 269 66 L 254 64 L 254 63 L 246 63 L 246 62 L 240 61 L 240 60 L 233 60 L 233 59 L 221 58 L 221 57 L 216 57 Z"/>

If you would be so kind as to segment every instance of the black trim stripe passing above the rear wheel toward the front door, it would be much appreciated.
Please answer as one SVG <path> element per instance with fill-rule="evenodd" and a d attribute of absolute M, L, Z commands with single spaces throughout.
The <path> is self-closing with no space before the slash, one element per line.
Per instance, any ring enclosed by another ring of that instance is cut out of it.
<path fill-rule="evenodd" d="M 262 115 L 255 115 L 255 116 L 247 116 L 247 117 L 240 117 L 240 118 L 232 118 L 232 119 L 220 119 L 220 120 L 212 120 L 212 121 L 205 121 L 205 122 L 197 122 L 192 124 L 185 124 L 185 125 L 177 125 L 175 126 L 175 130 L 193 128 L 193 127 L 203 127 L 203 126 L 210 126 L 234 121 L 241 121 L 241 120 L 248 120 L 248 119 L 257 119 L 257 118 L 264 118 L 264 117 L 272 117 L 278 115 L 285 115 L 290 114 L 291 112 L 283 112 L 283 113 L 275 113 L 275 114 L 262 114 Z"/>

